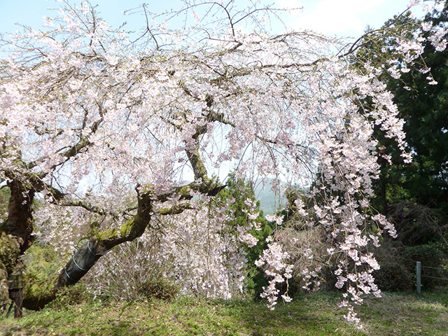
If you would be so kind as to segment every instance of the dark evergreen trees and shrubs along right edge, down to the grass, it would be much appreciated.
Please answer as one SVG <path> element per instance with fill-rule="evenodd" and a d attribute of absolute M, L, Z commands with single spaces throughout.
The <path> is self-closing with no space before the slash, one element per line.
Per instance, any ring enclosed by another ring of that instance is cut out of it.
<path fill-rule="evenodd" d="M 446 25 L 448 7 L 441 12 L 428 14 L 424 21 L 434 26 Z M 420 27 L 418 20 L 404 16 L 407 38 Z M 391 21 L 386 22 L 385 27 Z M 426 33 L 431 34 L 431 33 Z M 367 42 L 367 41 L 366 41 Z M 376 50 L 384 46 L 395 46 L 396 41 L 379 38 L 368 41 L 359 51 L 364 61 L 374 64 Z M 421 71 L 426 64 L 430 73 Z M 374 185 L 377 197 L 376 207 L 394 223 L 398 232 L 399 248 L 384 246 L 379 251 L 381 269 L 374 272 L 377 284 L 383 290 L 411 290 L 414 288 L 416 262 L 423 267 L 441 267 L 446 259 L 441 251 L 447 250 L 448 216 L 448 50 L 436 52 L 433 45 L 426 43 L 421 59 L 416 59 L 410 71 L 401 73 L 399 79 L 382 76 L 387 89 L 393 93 L 393 102 L 398 106 L 400 118 L 405 120 L 403 129 L 412 153 L 413 161 L 403 162 L 395 142 L 384 137 L 377 130 L 379 139 L 379 164 L 381 174 Z M 357 66 L 363 66 L 362 62 Z M 433 76 L 437 85 L 428 85 L 428 76 Z M 363 102 L 365 108 L 371 102 Z M 388 165 L 382 155 L 390 155 L 393 165 Z M 430 246 L 430 245 L 431 246 Z M 403 246 L 404 245 L 404 246 Z M 448 277 L 448 272 L 422 269 L 423 275 Z M 442 281 L 422 277 L 426 288 Z"/>

